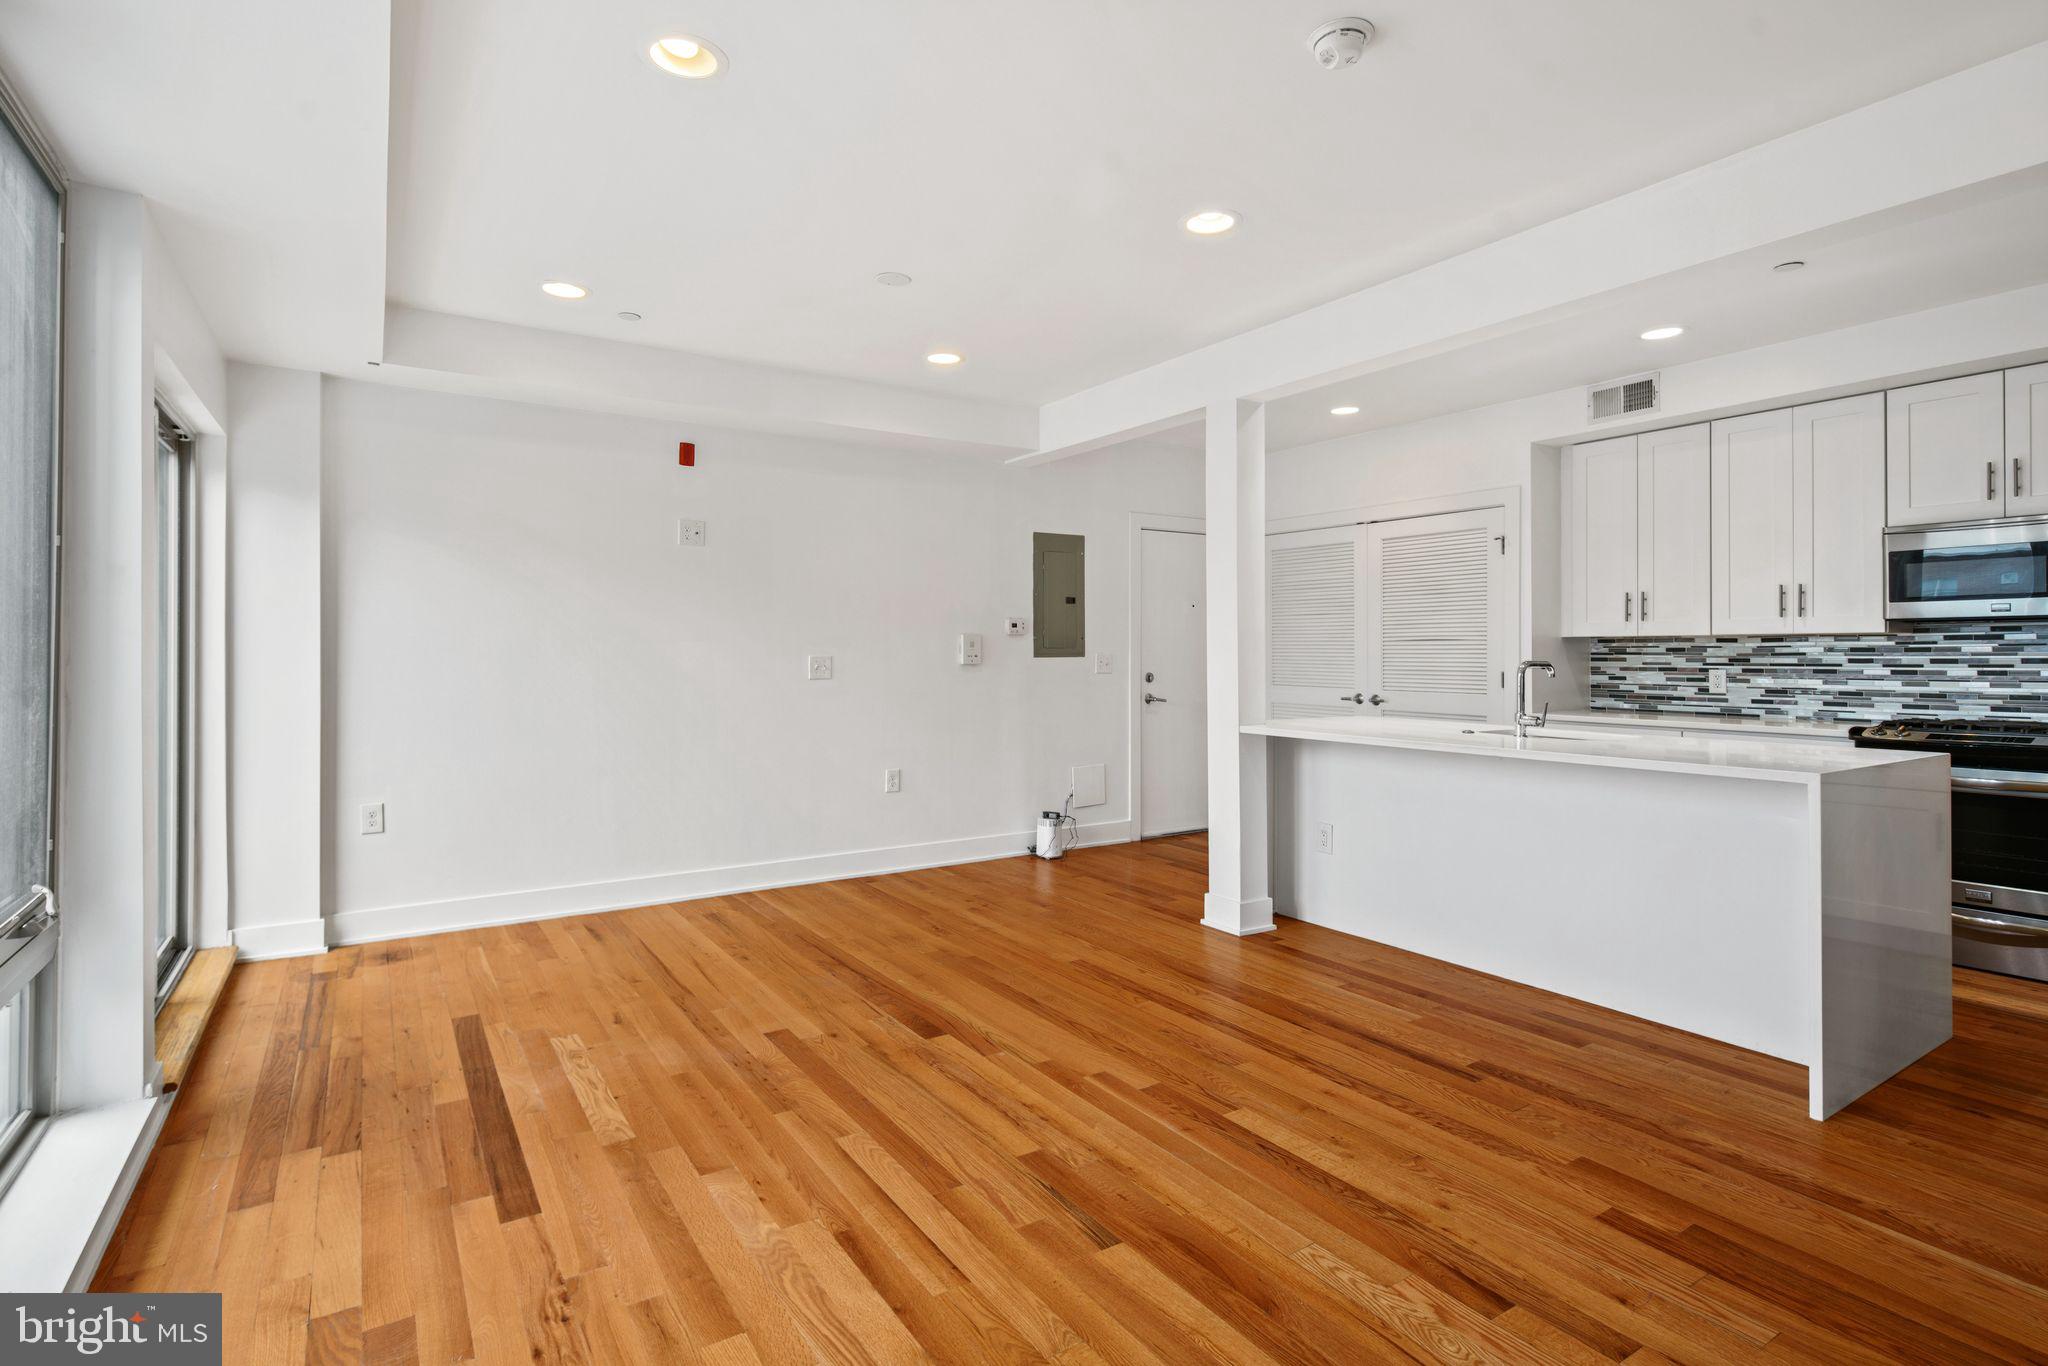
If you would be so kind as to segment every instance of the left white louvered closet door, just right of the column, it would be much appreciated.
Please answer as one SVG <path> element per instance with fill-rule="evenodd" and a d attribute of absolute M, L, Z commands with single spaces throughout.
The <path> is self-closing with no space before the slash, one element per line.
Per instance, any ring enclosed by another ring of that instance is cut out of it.
<path fill-rule="evenodd" d="M 1266 537 L 1266 702 L 1274 721 L 1370 713 L 1362 526 Z"/>

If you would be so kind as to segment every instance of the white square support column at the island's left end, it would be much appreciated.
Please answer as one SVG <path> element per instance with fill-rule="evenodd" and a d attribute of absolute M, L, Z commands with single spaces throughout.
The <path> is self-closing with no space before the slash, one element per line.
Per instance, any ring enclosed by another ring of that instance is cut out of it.
<path fill-rule="evenodd" d="M 1266 405 L 1208 405 L 1208 895 L 1202 924 L 1274 928 L 1268 895 L 1266 737 Z"/>

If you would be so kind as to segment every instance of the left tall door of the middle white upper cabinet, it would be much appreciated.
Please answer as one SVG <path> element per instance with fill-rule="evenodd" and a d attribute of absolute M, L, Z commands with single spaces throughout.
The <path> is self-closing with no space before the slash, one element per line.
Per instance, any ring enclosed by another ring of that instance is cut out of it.
<path fill-rule="evenodd" d="M 1714 424 L 1714 635 L 1796 631 L 1792 410 Z"/>

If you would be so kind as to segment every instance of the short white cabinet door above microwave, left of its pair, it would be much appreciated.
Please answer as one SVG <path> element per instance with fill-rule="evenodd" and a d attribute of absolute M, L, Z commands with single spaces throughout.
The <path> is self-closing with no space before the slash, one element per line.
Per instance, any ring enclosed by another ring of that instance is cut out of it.
<path fill-rule="evenodd" d="M 2005 516 L 2003 375 L 1942 379 L 1892 389 L 1884 399 L 1892 526 Z"/>

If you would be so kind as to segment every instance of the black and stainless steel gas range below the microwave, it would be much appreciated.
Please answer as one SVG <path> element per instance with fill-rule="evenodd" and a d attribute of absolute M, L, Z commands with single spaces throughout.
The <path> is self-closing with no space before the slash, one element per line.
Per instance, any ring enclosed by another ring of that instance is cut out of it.
<path fill-rule="evenodd" d="M 2048 981 L 2048 721 L 1907 717 L 1851 735 L 1948 754 L 1956 963 Z"/>

